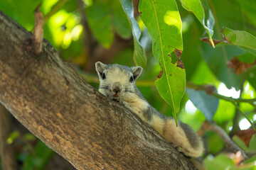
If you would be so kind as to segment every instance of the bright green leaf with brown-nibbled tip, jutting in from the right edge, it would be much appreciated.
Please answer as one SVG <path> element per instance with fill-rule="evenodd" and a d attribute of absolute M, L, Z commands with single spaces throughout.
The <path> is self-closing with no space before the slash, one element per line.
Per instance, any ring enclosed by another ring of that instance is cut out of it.
<path fill-rule="evenodd" d="M 230 28 L 223 28 L 222 31 L 224 39 L 233 45 L 242 47 L 247 52 L 255 55 L 256 59 L 256 38 L 250 33 L 243 30 L 231 30 Z"/>

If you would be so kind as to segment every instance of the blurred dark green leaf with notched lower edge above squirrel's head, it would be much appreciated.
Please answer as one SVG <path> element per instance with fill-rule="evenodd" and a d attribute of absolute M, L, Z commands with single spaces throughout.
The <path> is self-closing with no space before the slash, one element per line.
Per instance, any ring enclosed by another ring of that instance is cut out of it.
<path fill-rule="evenodd" d="M 97 0 L 86 8 L 86 14 L 90 30 L 103 47 L 110 47 L 114 32 L 122 38 L 131 36 L 127 17 L 118 0 Z"/>

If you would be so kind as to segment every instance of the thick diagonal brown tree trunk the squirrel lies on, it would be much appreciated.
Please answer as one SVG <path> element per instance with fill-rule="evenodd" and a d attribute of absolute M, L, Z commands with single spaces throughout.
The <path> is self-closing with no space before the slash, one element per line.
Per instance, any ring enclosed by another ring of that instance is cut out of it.
<path fill-rule="evenodd" d="M 195 169 L 127 108 L 102 96 L 49 42 L 0 11 L 0 102 L 77 169 Z"/>

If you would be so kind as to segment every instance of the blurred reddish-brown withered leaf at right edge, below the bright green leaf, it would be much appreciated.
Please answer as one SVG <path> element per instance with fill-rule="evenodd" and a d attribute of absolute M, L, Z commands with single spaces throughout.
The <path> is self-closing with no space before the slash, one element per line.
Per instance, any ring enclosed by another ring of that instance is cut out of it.
<path fill-rule="evenodd" d="M 234 69 L 235 74 L 242 74 L 246 72 L 247 69 L 252 67 L 252 65 L 256 64 L 256 60 L 254 63 L 245 63 L 245 62 L 240 62 L 238 60 L 238 57 L 233 57 L 232 60 L 228 61 L 227 67 L 230 69 Z"/>

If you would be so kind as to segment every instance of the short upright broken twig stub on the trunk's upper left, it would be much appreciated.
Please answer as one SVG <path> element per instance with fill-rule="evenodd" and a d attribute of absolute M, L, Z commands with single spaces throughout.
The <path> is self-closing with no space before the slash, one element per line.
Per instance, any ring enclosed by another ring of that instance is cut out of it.
<path fill-rule="evenodd" d="M 33 49 L 39 55 L 43 46 L 43 13 L 38 12 L 41 4 L 35 10 L 35 27 L 33 32 Z"/>

